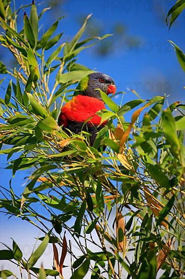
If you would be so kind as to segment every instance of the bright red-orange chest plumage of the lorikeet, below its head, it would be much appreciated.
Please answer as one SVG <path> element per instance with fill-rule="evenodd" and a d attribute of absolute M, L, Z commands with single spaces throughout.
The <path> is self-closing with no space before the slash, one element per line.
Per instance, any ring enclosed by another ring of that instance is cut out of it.
<path fill-rule="evenodd" d="M 61 110 L 61 122 L 67 126 L 67 121 L 87 122 L 98 126 L 101 124 L 101 117 L 96 113 L 105 109 L 103 101 L 89 96 L 74 96 Z M 107 121 L 101 125 L 105 125 Z"/>

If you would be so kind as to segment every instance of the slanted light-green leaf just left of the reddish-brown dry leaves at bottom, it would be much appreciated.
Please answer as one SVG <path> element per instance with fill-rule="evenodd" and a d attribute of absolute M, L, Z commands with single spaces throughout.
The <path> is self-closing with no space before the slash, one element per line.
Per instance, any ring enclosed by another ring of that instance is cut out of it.
<path fill-rule="evenodd" d="M 45 249 L 48 246 L 49 240 L 50 240 L 50 233 L 45 235 L 43 241 L 40 243 L 40 245 L 35 250 L 35 252 L 33 252 L 32 255 L 30 256 L 30 258 L 28 260 L 29 268 L 31 268 L 38 261 L 38 259 L 41 257 L 41 255 L 44 253 Z"/>

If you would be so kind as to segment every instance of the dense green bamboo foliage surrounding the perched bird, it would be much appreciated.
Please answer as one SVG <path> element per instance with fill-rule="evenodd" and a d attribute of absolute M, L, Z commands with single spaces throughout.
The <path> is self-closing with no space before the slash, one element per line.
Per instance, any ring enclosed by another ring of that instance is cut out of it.
<path fill-rule="evenodd" d="M 91 72 L 76 63 L 75 57 L 109 35 L 80 41 L 89 15 L 75 37 L 59 44 L 46 59 L 45 51 L 60 42 L 63 33 L 54 37 L 53 33 L 63 18 L 39 40 L 42 14 L 37 15 L 34 2 L 30 16 L 24 13 L 21 31 L 16 25 L 19 11 L 11 11 L 10 1 L 1 0 L 0 4 L 4 29 L 1 42 L 18 63 L 10 70 L 1 63 L 1 73 L 6 78 L 12 76 L 5 99 L 1 99 L 1 154 L 7 154 L 7 168 L 12 169 L 13 175 L 34 167 L 21 196 L 14 193 L 11 182 L 10 189 L 2 186 L 1 208 L 43 233 L 29 259 L 23 258 L 14 240 L 13 249 L 1 251 L 1 259 L 18 265 L 21 274 L 27 270 L 29 278 L 63 278 L 67 252 L 71 255 L 71 262 L 67 263 L 71 278 L 83 278 L 87 272 L 92 279 L 155 278 L 160 268 L 164 270 L 161 278 L 182 277 L 182 104 L 176 101 L 167 106 L 165 97 L 155 96 L 150 101 L 135 99 L 120 107 L 102 92 L 110 110 L 99 114 L 102 121 L 108 119 L 108 125 L 98 133 L 94 146 L 89 146 L 87 132 L 71 133 L 69 137 L 57 126 L 57 116 L 71 97 L 69 86 Z M 178 55 L 179 61 L 181 58 Z M 52 75 L 56 81 L 50 90 Z M 126 123 L 124 114 L 138 106 L 130 123 Z M 107 147 L 105 151 L 101 151 L 102 146 Z M 35 203 L 49 215 L 36 212 Z M 53 243 L 53 270 L 36 267 L 48 243 Z M 80 257 L 74 252 L 75 246 Z M 62 247 L 60 258 L 57 247 Z M 16 277 L 9 270 L 1 271 L 3 278 L 11 275 Z"/>

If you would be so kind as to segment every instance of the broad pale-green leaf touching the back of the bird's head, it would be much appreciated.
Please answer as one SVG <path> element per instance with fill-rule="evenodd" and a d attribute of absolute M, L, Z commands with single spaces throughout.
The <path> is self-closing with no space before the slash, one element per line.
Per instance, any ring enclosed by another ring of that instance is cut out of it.
<path fill-rule="evenodd" d="M 65 74 L 60 74 L 57 78 L 60 83 L 67 83 L 69 81 L 80 81 L 83 77 L 88 74 L 94 73 L 95 71 L 72 71 Z"/>

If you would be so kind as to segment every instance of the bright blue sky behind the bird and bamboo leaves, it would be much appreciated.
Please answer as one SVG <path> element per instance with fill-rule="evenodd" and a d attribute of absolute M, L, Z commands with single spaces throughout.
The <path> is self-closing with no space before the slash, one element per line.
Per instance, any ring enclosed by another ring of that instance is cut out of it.
<path fill-rule="evenodd" d="M 16 0 L 16 8 L 30 1 Z M 124 32 L 99 42 L 99 49 L 104 50 L 108 45 L 111 51 L 107 55 L 98 55 L 97 47 L 81 52 L 78 56 L 78 63 L 83 64 L 96 71 L 107 73 L 116 83 L 119 91 L 125 91 L 123 102 L 127 102 L 136 96 L 129 91 L 132 88 L 143 98 L 152 98 L 155 94 L 166 93 L 169 102 L 184 100 L 184 74 L 176 59 L 175 52 L 168 40 L 172 40 L 184 51 L 184 13 L 182 13 L 171 29 L 165 24 L 165 16 L 175 1 L 56 1 L 54 10 L 45 12 L 41 23 L 44 30 L 47 30 L 60 16 L 65 16 L 60 21 L 57 32 L 65 31 L 61 43 L 72 38 L 80 27 L 80 18 L 92 13 L 89 20 L 91 26 L 96 26 L 105 33 L 113 33 L 114 26 L 121 25 Z M 39 1 L 36 1 L 39 4 Z M 51 6 L 51 1 L 43 1 L 38 5 L 39 12 L 43 8 Z M 29 14 L 30 8 L 25 8 Z M 20 12 L 19 22 L 23 16 Z M 19 26 L 19 25 L 18 25 Z M 19 27 L 21 28 L 21 27 Z M 85 38 L 84 35 L 83 38 Z M 2 60 L 7 60 L 7 52 L 1 49 Z M 49 53 L 48 53 L 49 55 Z M 51 81 L 52 83 L 54 81 Z M 1 90 L 2 95 L 4 91 Z M 113 98 L 117 103 L 119 98 Z M 130 115 L 128 115 L 128 120 Z M 5 166 L 6 156 L 2 156 L 1 166 Z M 19 172 L 12 179 L 12 187 L 20 194 L 24 187 L 24 172 Z M 9 187 L 11 178 L 10 170 L 3 170 L 1 185 Z M 11 243 L 13 237 L 18 243 L 34 243 L 36 235 L 26 222 L 18 218 L 8 220 L 7 216 L 1 215 L 1 241 Z M 5 229 L 6 228 L 6 229 Z M 28 258 L 28 256 L 26 256 Z M 5 263 L 4 263 L 5 267 Z"/>

